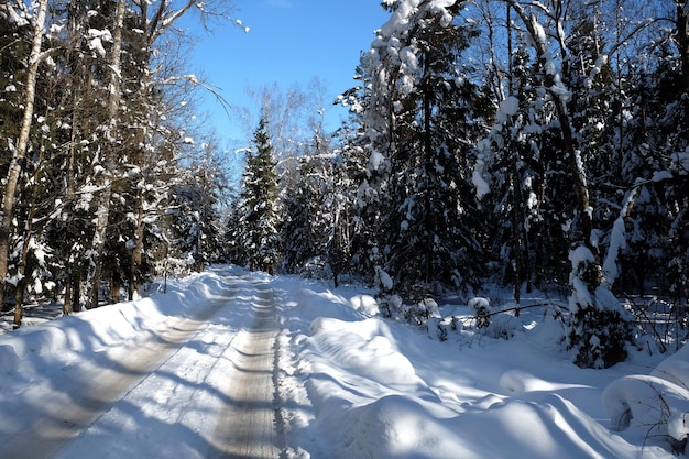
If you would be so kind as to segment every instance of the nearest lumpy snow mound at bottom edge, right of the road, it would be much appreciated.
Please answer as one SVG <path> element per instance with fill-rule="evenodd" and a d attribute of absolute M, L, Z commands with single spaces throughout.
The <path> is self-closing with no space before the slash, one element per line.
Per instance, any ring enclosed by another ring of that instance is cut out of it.
<path fill-rule="evenodd" d="M 328 457 L 332 458 L 636 456 L 635 447 L 616 441 L 608 429 L 557 395 L 543 403 L 508 401 L 457 414 L 434 401 L 396 394 L 340 413 L 339 417 L 318 417 L 324 431 L 338 433 L 330 437 L 335 444 Z"/>

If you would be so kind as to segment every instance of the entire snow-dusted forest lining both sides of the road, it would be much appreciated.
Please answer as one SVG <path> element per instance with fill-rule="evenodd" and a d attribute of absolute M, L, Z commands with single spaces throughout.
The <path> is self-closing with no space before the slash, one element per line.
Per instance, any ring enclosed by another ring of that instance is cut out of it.
<path fill-rule="evenodd" d="M 212 89 L 177 26 L 241 26 L 234 7 L 2 0 L 15 327 L 29 303 L 67 315 L 209 263 L 356 280 L 418 323 L 434 297 L 549 289 L 583 368 L 626 358 L 648 295 L 689 318 L 686 0 L 385 0 L 333 101 L 348 118 L 328 132 L 305 94 L 266 89 L 240 184 L 195 121 Z"/>

